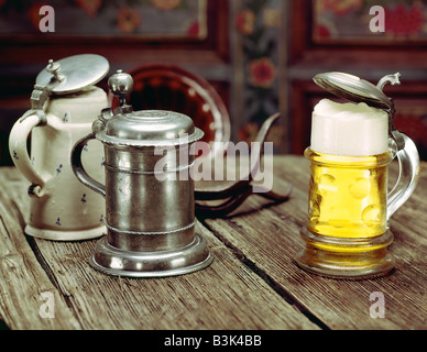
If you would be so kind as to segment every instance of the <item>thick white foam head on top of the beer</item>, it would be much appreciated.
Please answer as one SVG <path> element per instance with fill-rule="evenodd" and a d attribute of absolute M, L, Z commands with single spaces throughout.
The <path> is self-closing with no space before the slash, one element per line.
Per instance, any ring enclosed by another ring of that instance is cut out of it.
<path fill-rule="evenodd" d="M 383 154 L 388 150 L 388 116 L 364 102 L 324 99 L 313 112 L 310 148 L 332 155 Z"/>

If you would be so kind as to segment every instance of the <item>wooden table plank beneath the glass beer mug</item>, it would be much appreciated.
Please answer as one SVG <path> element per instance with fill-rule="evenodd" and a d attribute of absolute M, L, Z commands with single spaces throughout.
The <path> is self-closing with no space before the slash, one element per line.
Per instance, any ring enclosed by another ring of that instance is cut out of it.
<path fill-rule="evenodd" d="M 265 201 L 251 197 L 226 219 L 207 219 L 209 229 L 277 285 L 288 299 L 303 306 L 331 329 L 425 329 L 426 317 L 426 213 L 421 196 L 427 186 L 423 164 L 417 193 L 391 222 L 391 246 L 397 264 L 388 277 L 346 282 L 308 274 L 294 261 L 303 249 L 299 230 L 306 222 L 308 163 L 296 156 L 275 160 L 277 178 L 294 184 L 286 204 L 261 208 Z M 275 185 L 285 187 L 277 179 Z M 385 319 L 372 319 L 370 295 L 385 298 Z"/>

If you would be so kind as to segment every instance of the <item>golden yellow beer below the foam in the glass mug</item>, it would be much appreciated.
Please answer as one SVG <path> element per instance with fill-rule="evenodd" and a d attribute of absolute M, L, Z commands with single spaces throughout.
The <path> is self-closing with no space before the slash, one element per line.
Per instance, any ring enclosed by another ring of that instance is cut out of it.
<path fill-rule="evenodd" d="M 310 163 L 308 230 L 341 239 L 379 237 L 387 226 L 391 152 L 337 156 L 307 148 Z"/>

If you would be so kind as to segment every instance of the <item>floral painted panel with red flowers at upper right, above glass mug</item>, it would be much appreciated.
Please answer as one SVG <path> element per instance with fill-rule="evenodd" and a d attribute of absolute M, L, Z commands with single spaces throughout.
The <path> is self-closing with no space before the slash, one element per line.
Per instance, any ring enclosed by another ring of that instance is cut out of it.
<path fill-rule="evenodd" d="M 313 40 L 317 44 L 366 44 L 387 41 L 419 43 L 427 40 L 427 1 L 425 0 L 313 0 Z M 372 31 L 380 21 L 384 29 Z"/>

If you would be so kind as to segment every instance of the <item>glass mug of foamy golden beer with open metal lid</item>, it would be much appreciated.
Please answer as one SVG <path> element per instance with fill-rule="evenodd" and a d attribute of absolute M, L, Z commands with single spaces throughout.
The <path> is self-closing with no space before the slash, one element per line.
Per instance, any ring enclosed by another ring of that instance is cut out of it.
<path fill-rule="evenodd" d="M 358 77 L 330 73 L 315 81 L 336 96 L 351 100 L 320 101 L 313 113 L 306 242 L 298 265 L 335 278 L 383 276 L 394 267 L 387 251 L 393 242 L 392 215 L 410 197 L 419 174 L 414 142 L 396 131 L 394 103 L 382 91 L 398 75 L 375 87 Z M 396 186 L 388 193 L 387 166 L 399 163 Z"/>

